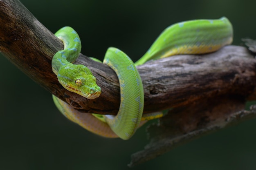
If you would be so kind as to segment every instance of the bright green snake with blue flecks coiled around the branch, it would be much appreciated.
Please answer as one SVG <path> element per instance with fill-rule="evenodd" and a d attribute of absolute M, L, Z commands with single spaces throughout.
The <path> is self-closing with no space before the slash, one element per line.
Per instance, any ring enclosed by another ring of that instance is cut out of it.
<path fill-rule="evenodd" d="M 81 51 L 79 35 L 69 26 L 63 27 L 55 35 L 64 44 L 64 49 L 52 59 L 52 69 L 58 81 L 68 91 L 87 99 L 99 97 L 101 88 L 97 86 L 91 71 L 86 66 L 72 64 Z M 210 53 L 231 44 L 232 40 L 233 28 L 225 17 L 173 24 L 159 35 L 135 64 L 117 48 L 110 47 L 106 51 L 103 63 L 115 71 L 120 84 L 121 102 L 116 116 L 80 113 L 56 96 L 53 96 L 54 103 L 65 117 L 97 135 L 130 139 L 148 119 L 162 116 L 162 113 L 142 115 L 144 91 L 136 66 L 171 55 Z"/>

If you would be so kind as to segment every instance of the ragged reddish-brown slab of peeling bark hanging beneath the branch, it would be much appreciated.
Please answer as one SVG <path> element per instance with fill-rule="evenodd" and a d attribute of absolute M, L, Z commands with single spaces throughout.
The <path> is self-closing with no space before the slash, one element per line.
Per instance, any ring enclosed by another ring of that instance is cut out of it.
<path fill-rule="evenodd" d="M 144 150 L 132 154 L 128 166 L 144 163 L 205 134 L 256 117 L 255 106 L 252 110 L 244 108 L 245 101 L 236 95 L 213 97 L 174 108 L 159 119 L 158 124 L 150 125 L 147 130 L 150 143 Z"/>

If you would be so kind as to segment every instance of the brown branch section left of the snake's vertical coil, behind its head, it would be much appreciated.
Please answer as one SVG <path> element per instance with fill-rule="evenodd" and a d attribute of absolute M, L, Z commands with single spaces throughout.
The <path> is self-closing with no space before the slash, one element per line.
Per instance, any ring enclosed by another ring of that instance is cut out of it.
<path fill-rule="evenodd" d="M 114 71 L 108 66 L 81 55 L 76 64 L 83 63 L 91 69 L 103 93 L 94 100 L 71 93 L 58 83 L 52 72 L 52 57 L 63 49 L 62 42 L 18 0 L 0 0 L 0 18 L 0 51 L 22 72 L 80 110 L 117 113 L 119 84 Z"/>

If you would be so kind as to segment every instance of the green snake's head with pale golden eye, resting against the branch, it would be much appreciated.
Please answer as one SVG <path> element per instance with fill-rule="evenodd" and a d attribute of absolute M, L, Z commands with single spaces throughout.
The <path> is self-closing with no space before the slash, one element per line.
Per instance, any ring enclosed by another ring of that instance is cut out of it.
<path fill-rule="evenodd" d="M 67 64 L 58 71 L 58 81 L 68 91 L 77 93 L 87 99 L 95 99 L 101 94 L 96 78 L 84 65 Z"/>

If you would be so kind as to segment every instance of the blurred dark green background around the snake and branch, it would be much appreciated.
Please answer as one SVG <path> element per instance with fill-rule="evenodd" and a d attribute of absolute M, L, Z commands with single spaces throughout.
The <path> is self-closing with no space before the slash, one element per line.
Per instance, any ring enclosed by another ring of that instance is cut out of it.
<path fill-rule="evenodd" d="M 226 16 L 234 43 L 256 38 L 256 1 L 249 0 L 21 0 L 53 33 L 72 26 L 82 53 L 102 59 L 109 46 L 132 60 L 175 22 Z M 17 11 L 18 12 L 18 11 Z M 0 170 L 125 170 L 146 144 L 145 127 L 128 141 L 92 135 L 55 108 L 50 93 L 0 57 Z M 254 170 L 256 120 L 245 121 L 139 165 L 147 170 Z"/>

